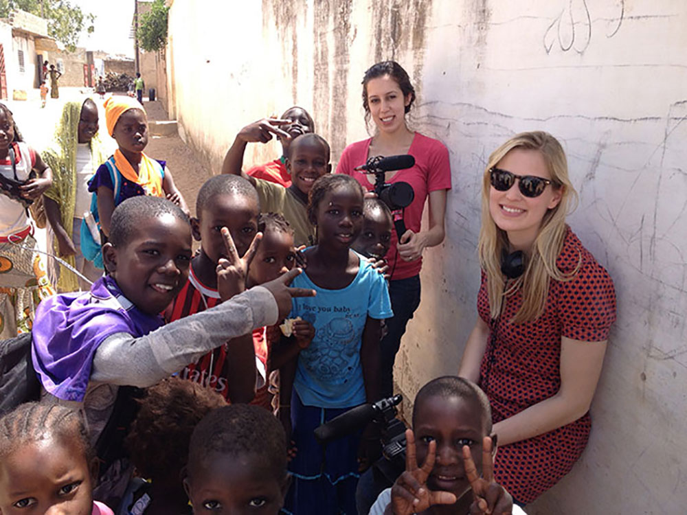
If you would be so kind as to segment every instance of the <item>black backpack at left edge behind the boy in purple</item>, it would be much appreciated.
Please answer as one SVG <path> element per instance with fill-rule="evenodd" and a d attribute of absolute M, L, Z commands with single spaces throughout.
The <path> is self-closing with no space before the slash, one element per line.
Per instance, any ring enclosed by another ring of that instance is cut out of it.
<path fill-rule="evenodd" d="M 31 333 L 0 341 L 0 417 L 40 397 L 41 383 L 31 361 Z"/>

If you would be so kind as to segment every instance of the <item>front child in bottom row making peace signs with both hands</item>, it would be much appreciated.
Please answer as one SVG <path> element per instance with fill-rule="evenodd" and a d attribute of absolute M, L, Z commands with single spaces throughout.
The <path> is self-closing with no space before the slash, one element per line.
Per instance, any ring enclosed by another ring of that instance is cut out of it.
<path fill-rule="evenodd" d="M 455 376 L 418 391 L 413 429 L 405 432 L 406 469 L 370 515 L 523 514 L 493 479 L 496 436 L 484 392 Z"/>

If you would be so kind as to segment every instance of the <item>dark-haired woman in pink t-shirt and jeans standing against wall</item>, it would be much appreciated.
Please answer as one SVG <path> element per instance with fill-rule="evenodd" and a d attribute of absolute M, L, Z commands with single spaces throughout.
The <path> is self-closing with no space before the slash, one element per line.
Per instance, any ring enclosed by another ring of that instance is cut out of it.
<path fill-rule="evenodd" d="M 365 71 L 363 78 L 363 108 L 365 120 L 370 118 L 376 134 L 350 144 L 343 150 L 337 172 L 353 176 L 368 191 L 373 189 L 374 176 L 357 172 L 355 167 L 370 157 L 410 154 L 415 165 L 406 170 L 387 172 L 386 182 L 406 182 L 413 187 L 414 201 L 403 211 L 394 213 L 402 218 L 406 231 L 398 242 L 392 233 L 387 253 L 391 272 L 389 290 L 394 317 L 387 320 L 388 332 L 381 342 L 381 393 L 390 396 L 396 352 L 401 345 L 405 326 L 420 304 L 420 268 L 423 251 L 444 240 L 446 194 L 451 188 L 449 151 L 440 141 L 410 130 L 405 115 L 415 100 L 415 90 L 406 71 L 394 61 L 378 62 Z M 429 227 L 420 227 L 425 202 L 429 197 Z"/>

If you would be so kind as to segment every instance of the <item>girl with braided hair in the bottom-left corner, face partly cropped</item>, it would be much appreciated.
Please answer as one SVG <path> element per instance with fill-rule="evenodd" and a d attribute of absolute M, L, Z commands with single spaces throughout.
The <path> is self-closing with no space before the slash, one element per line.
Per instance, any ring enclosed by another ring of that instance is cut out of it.
<path fill-rule="evenodd" d="M 97 475 L 78 411 L 30 402 L 0 419 L 0 514 L 113 515 L 93 501 Z"/>

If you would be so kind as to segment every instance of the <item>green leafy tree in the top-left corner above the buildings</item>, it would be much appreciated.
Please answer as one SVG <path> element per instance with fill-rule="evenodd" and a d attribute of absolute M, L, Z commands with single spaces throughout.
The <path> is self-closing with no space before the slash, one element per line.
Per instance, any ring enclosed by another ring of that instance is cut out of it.
<path fill-rule="evenodd" d="M 93 32 L 95 16 L 69 0 L 0 0 L 0 17 L 7 18 L 14 9 L 47 19 L 48 35 L 63 43 L 69 52 L 76 49 L 82 32 Z"/>

